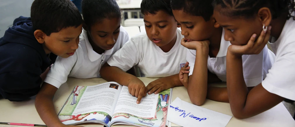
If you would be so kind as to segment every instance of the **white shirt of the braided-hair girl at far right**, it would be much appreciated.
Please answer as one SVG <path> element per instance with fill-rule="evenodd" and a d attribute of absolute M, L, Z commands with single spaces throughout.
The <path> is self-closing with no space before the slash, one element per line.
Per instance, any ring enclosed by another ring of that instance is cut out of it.
<path fill-rule="evenodd" d="M 268 92 L 295 100 L 295 21 L 286 21 L 281 35 L 270 43 L 276 59 L 262 81 Z"/>

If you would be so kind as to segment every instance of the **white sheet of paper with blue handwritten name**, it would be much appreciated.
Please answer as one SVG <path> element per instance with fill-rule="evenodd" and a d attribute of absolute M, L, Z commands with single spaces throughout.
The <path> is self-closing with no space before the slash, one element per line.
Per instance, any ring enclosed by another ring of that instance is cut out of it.
<path fill-rule="evenodd" d="M 183 127 L 225 127 L 232 116 L 209 110 L 176 98 L 168 106 L 167 120 Z"/>

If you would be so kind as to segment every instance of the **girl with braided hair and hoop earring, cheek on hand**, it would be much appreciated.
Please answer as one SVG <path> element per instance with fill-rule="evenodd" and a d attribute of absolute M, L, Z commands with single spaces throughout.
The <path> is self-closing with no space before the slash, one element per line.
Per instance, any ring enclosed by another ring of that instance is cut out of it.
<path fill-rule="evenodd" d="M 227 91 L 232 114 L 248 118 L 295 100 L 294 0 L 214 0 L 214 17 L 226 31 Z M 276 54 L 262 83 L 248 91 L 242 55 L 258 54 L 270 41 Z"/>

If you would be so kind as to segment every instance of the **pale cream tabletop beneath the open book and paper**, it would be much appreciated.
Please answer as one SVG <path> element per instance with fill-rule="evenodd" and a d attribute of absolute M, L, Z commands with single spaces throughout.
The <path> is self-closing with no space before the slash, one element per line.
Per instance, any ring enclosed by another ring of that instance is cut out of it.
<path fill-rule="evenodd" d="M 156 78 L 140 78 L 140 80 L 148 85 L 151 81 Z M 72 92 L 74 86 L 92 86 L 100 83 L 106 82 L 102 78 L 90 78 L 90 79 L 77 79 L 68 78 L 68 81 L 60 86 L 58 91 L 55 93 L 53 102 L 55 105 L 55 111 L 58 113 L 60 108 L 63 106 L 64 102 L 68 98 L 68 95 Z M 213 84 L 213 86 L 224 86 L 224 83 Z M 183 101 L 190 102 L 189 95 L 185 87 L 175 87 L 173 88 L 173 99 L 179 97 Z M 30 123 L 30 124 L 44 124 L 44 122 L 39 117 L 35 105 L 34 97 L 29 101 L 23 102 L 10 102 L 8 100 L 0 99 L 0 122 L 12 122 L 12 123 Z M 206 99 L 204 105 L 201 107 L 208 108 L 220 113 L 224 113 L 232 116 L 229 103 L 217 102 Z M 86 127 L 99 126 L 103 127 L 101 124 L 97 123 L 87 123 L 81 124 Z M 123 125 L 116 125 L 115 127 L 125 127 Z M 177 126 L 172 124 L 172 126 Z M 237 119 L 232 117 L 232 119 L 227 124 L 227 127 L 295 127 L 295 121 L 287 111 L 282 103 L 265 111 L 257 116 L 247 118 L 247 119 Z M 1 125 L 0 127 L 17 127 L 12 125 Z M 24 127 L 24 126 L 19 126 Z"/>

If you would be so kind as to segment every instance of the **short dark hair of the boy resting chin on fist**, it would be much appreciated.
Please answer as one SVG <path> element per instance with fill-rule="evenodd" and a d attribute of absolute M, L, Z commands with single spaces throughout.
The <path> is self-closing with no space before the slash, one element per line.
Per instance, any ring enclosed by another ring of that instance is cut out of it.
<path fill-rule="evenodd" d="M 193 16 L 202 16 L 205 21 L 209 21 L 214 10 L 212 0 L 171 0 L 171 8 Z"/>

